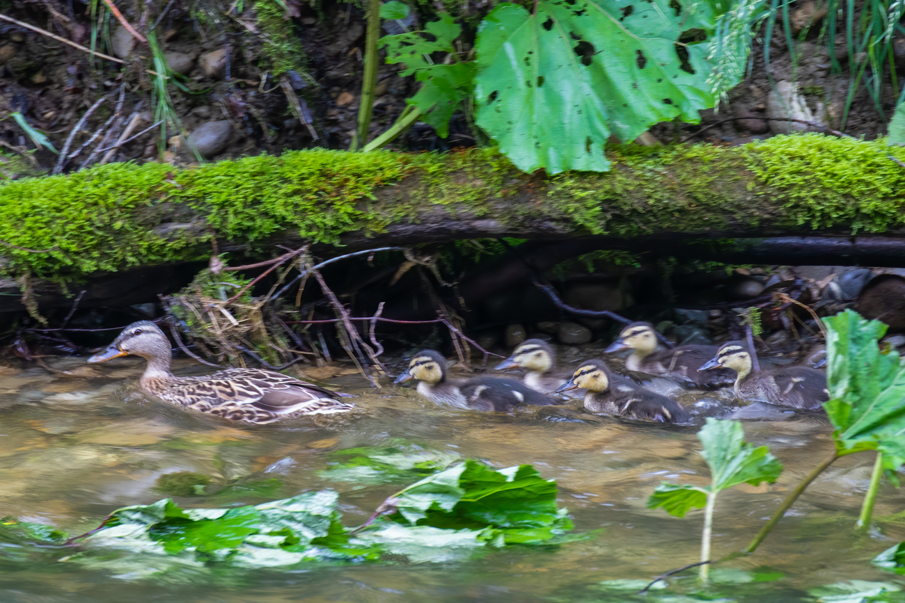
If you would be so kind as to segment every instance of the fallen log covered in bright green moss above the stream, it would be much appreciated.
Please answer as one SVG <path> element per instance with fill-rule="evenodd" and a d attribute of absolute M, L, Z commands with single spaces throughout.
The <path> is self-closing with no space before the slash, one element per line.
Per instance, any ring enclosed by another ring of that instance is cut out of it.
<path fill-rule="evenodd" d="M 0 270 L 9 279 L 0 292 L 29 275 L 42 306 L 56 305 L 39 279 L 75 291 L 102 272 L 206 259 L 214 239 L 220 250 L 253 254 L 301 240 L 329 253 L 337 244 L 348 251 L 494 236 L 597 235 L 653 246 L 905 238 L 905 168 L 890 154 L 905 159 L 905 149 L 881 142 L 803 135 L 737 147 L 614 147 L 612 172 L 554 178 L 522 174 L 487 149 L 302 151 L 186 169 L 103 165 L 0 185 Z"/>

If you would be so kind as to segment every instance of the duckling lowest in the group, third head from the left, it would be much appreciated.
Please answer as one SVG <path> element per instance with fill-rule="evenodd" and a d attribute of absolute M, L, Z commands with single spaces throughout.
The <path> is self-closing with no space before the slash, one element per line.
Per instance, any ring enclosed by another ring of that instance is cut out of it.
<path fill-rule="evenodd" d="M 610 372 L 600 360 L 581 363 L 557 391 L 579 387 L 587 390 L 585 409 L 589 412 L 607 412 L 662 423 L 681 423 L 689 419 L 688 412 L 676 400 L 645 390 L 641 385 Z"/>

